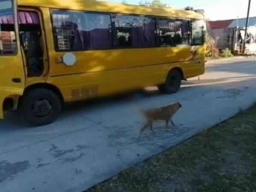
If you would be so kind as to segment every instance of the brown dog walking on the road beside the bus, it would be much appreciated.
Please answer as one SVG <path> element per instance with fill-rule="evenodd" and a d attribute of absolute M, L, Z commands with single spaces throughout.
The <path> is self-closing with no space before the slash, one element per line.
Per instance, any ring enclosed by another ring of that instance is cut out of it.
<path fill-rule="evenodd" d="M 150 128 L 151 131 L 155 132 L 152 128 L 153 122 L 156 120 L 165 120 L 166 121 L 166 129 L 168 129 L 168 123 L 171 121 L 172 125 L 175 125 L 172 121 L 172 116 L 178 111 L 179 108 L 182 108 L 182 105 L 179 102 L 176 102 L 171 105 L 166 105 L 160 108 L 150 109 L 147 111 L 142 111 L 143 115 L 147 119 L 147 122 L 145 123 L 144 127 L 140 130 L 140 138 L 142 132 L 146 128 Z"/>

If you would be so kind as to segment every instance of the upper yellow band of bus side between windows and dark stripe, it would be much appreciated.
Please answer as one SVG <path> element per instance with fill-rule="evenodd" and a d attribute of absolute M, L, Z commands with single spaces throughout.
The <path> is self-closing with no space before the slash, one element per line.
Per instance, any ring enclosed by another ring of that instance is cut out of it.
<path fill-rule="evenodd" d="M 58 58 L 61 58 L 66 52 L 55 52 L 52 47 L 49 52 L 50 74 L 51 76 L 61 76 L 76 73 L 93 73 L 198 60 L 198 56 L 190 52 L 191 48 L 186 46 L 78 51 L 73 52 L 76 56 L 76 64 L 67 66 L 64 63 L 58 63 Z M 189 65 L 186 67 L 192 68 L 195 66 Z"/>

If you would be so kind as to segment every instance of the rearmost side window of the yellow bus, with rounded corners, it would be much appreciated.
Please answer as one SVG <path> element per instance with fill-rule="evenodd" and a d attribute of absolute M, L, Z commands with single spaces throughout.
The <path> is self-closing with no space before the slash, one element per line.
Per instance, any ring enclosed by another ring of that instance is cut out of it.
<path fill-rule="evenodd" d="M 206 24 L 205 21 L 192 20 L 192 45 L 203 45 L 205 42 Z"/>

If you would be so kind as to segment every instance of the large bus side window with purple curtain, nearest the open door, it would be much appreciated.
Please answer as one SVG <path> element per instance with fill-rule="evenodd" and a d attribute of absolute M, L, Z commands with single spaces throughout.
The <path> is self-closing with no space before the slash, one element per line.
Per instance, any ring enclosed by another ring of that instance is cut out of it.
<path fill-rule="evenodd" d="M 112 48 L 108 14 L 52 10 L 52 25 L 57 51 Z"/>

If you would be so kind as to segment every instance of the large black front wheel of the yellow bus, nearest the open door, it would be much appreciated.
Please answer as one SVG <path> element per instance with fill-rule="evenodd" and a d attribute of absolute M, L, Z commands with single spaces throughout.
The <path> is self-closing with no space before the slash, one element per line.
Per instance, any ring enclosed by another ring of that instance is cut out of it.
<path fill-rule="evenodd" d="M 47 125 L 61 113 L 61 101 L 51 90 L 34 89 L 23 96 L 20 113 L 32 125 Z"/>

